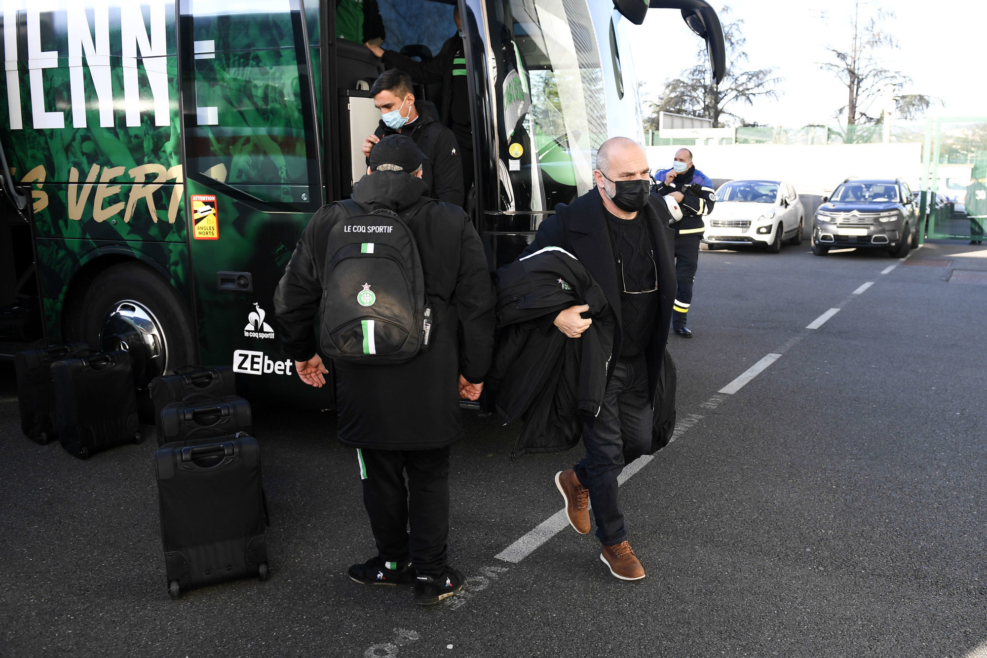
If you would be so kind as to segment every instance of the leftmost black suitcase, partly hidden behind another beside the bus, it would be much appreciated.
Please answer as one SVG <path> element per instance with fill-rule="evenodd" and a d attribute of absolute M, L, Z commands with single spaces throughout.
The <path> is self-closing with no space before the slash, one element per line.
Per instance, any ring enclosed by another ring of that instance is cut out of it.
<path fill-rule="evenodd" d="M 85 343 L 70 343 L 26 350 L 14 355 L 21 430 L 39 444 L 58 438 L 55 431 L 55 389 L 51 383 L 51 364 L 88 350 L 89 346 Z"/>

